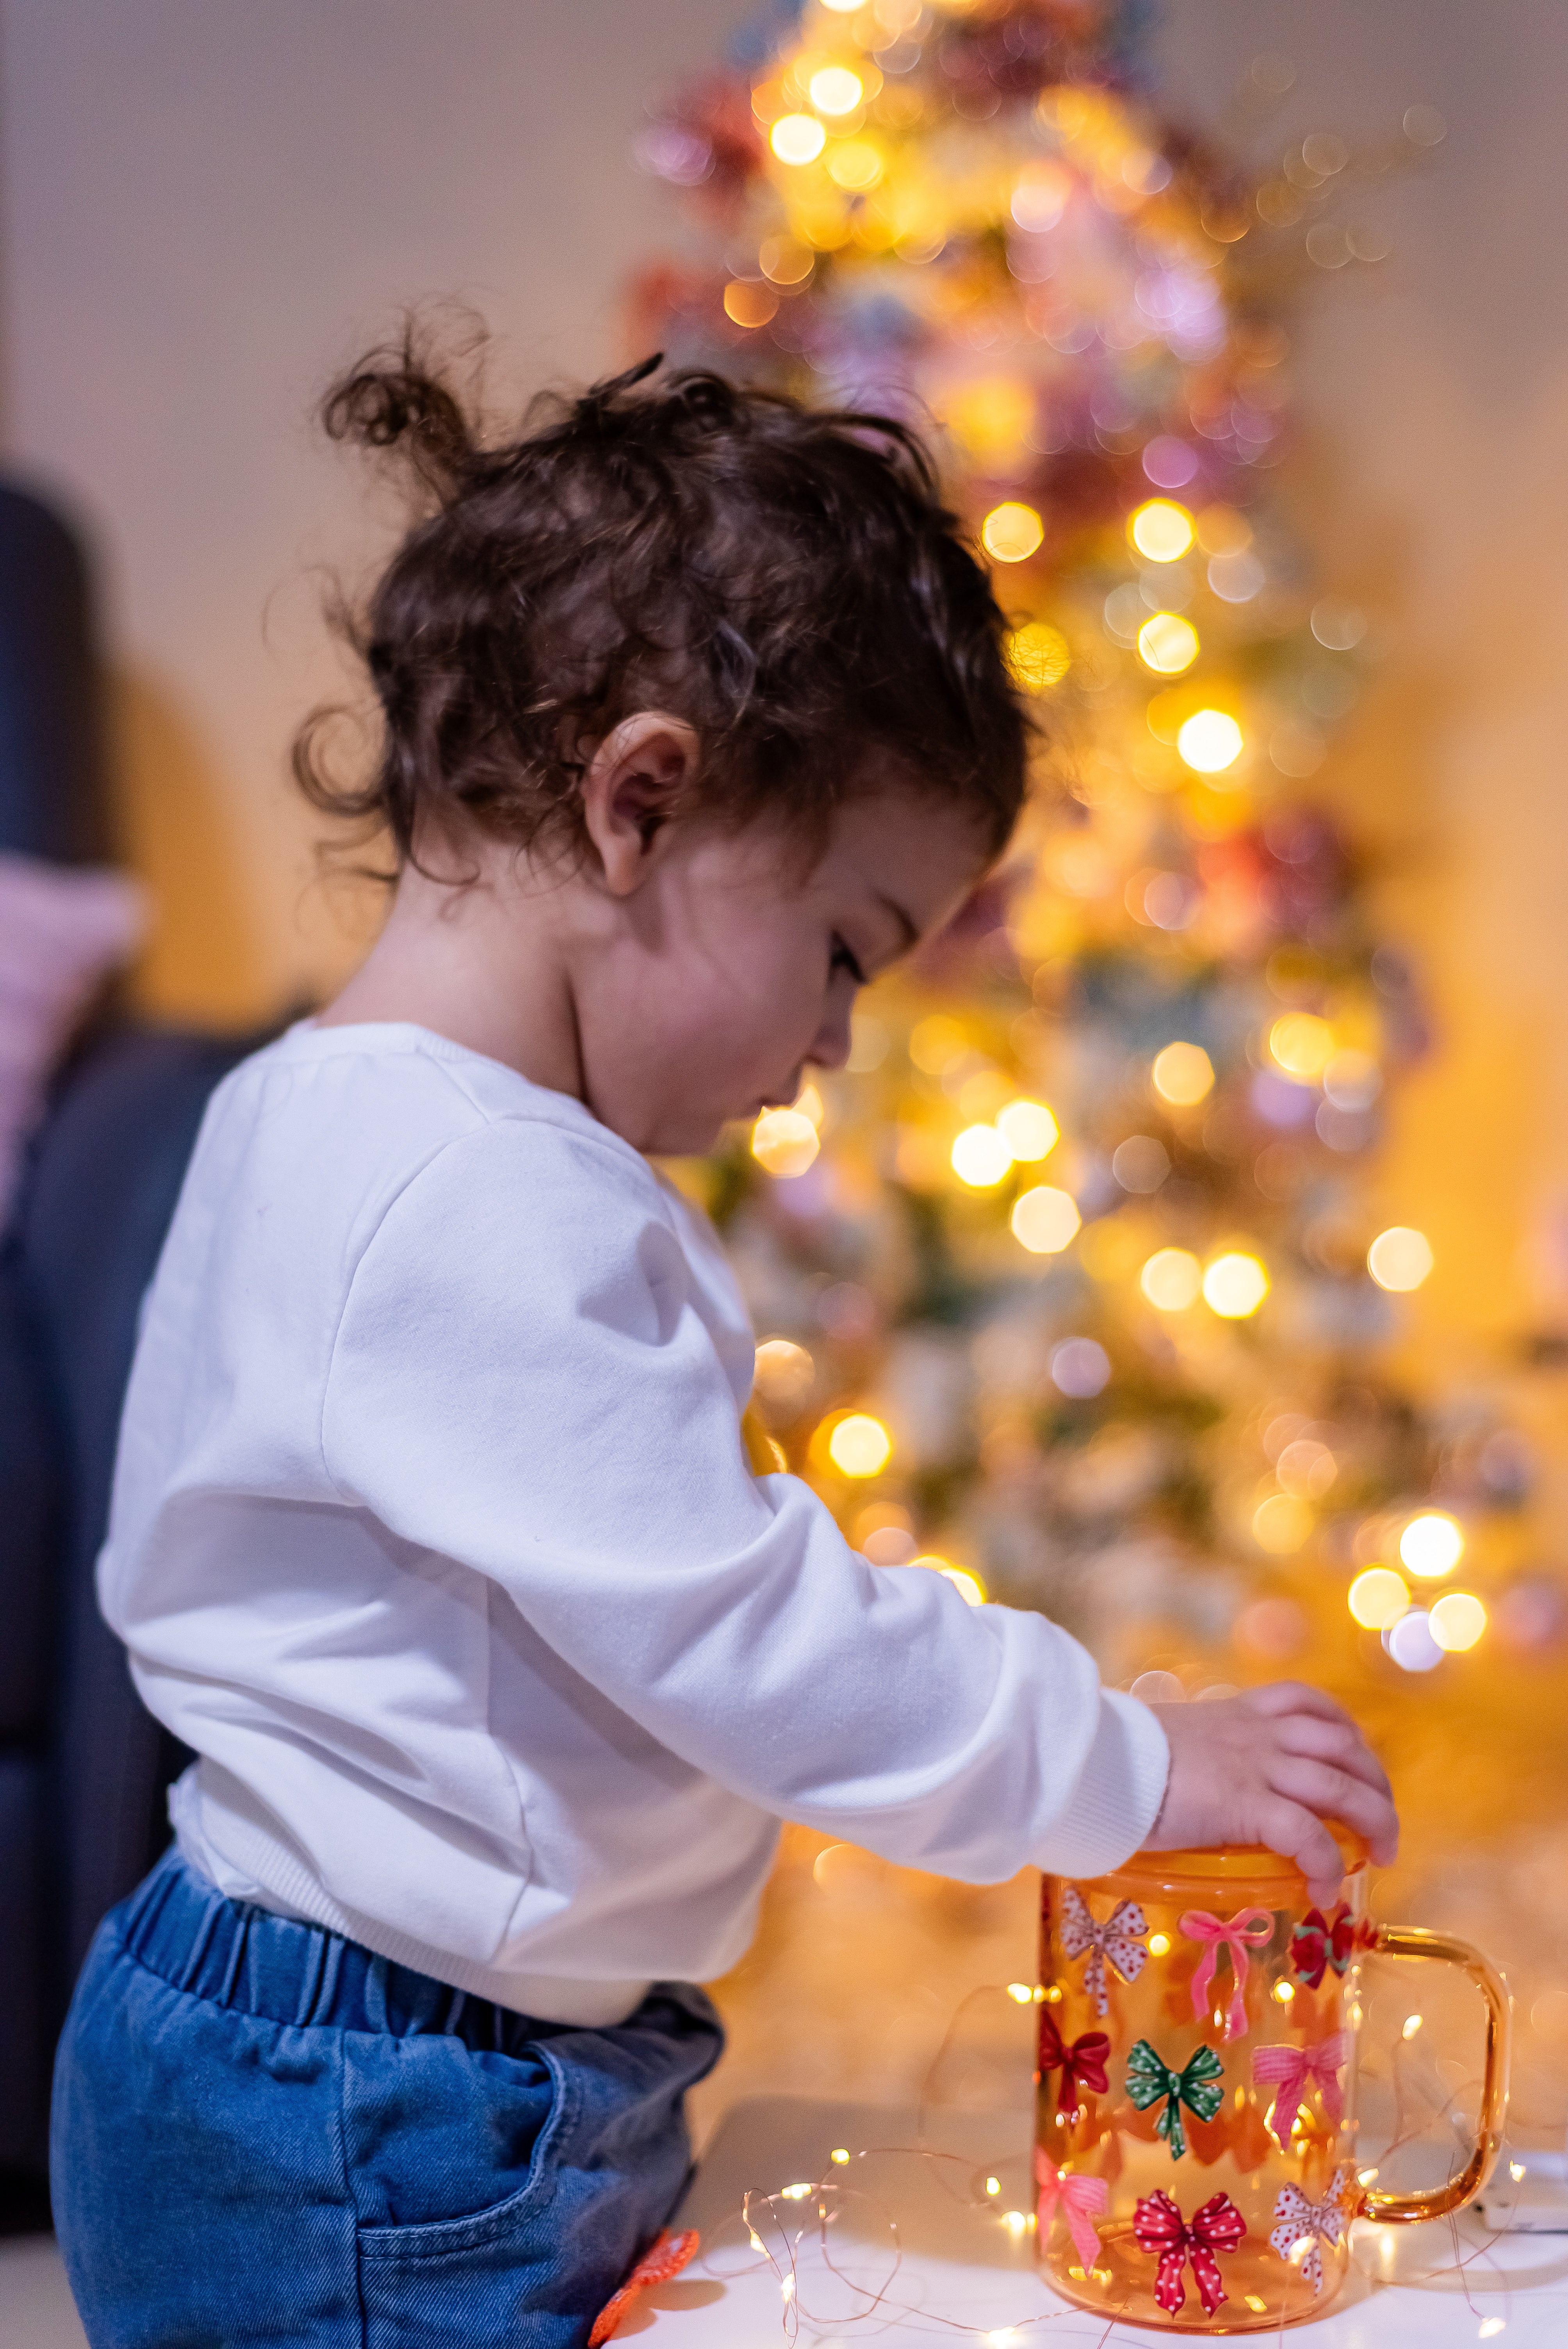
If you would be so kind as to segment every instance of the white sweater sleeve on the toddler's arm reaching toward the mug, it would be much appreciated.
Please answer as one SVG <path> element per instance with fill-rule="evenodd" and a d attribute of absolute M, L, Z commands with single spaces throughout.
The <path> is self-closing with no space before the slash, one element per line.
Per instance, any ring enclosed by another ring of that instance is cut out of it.
<path fill-rule="evenodd" d="M 1153 1825 L 1155 1715 L 1042 1616 L 878 1569 L 753 1478 L 648 1170 L 542 1120 L 448 1144 L 352 1271 L 331 1480 L 498 1583 L 674 1755 L 913 1867 L 1099 1875 Z"/>

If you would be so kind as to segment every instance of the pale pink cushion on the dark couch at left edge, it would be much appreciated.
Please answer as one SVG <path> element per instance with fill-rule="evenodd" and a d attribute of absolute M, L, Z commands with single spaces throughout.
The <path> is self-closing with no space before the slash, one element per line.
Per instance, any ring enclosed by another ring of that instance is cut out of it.
<path fill-rule="evenodd" d="M 0 853 L 0 1221 L 49 1076 L 143 928 L 146 897 L 124 874 Z"/>

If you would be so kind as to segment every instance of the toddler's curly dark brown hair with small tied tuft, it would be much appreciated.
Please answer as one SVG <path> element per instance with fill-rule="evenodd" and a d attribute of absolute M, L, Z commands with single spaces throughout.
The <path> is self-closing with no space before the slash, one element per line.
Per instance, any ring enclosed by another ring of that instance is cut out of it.
<path fill-rule="evenodd" d="M 331 778 L 317 709 L 293 745 L 307 799 L 390 836 L 397 869 L 444 820 L 580 850 L 584 749 L 660 707 L 697 733 L 695 810 L 822 839 L 880 749 L 998 853 L 1028 721 L 918 437 L 660 364 L 540 395 L 509 439 L 413 331 L 329 390 L 331 439 L 397 451 L 415 510 L 345 615 L 376 770 Z"/>

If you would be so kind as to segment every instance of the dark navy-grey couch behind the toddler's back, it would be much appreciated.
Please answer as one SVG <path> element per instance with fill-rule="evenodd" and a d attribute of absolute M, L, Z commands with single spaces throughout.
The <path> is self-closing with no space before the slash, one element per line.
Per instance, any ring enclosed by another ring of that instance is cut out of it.
<path fill-rule="evenodd" d="M 0 486 L 0 848 L 108 850 L 87 566 Z M 207 1095 L 261 1038 L 113 1008 L 59 1071 L 0 1238 L 0 2227 L 42 2220 L 49 2060 L 101 1914 L 169 1828 L 181 1750 L 94 1604 L 136 1311 Z"/>

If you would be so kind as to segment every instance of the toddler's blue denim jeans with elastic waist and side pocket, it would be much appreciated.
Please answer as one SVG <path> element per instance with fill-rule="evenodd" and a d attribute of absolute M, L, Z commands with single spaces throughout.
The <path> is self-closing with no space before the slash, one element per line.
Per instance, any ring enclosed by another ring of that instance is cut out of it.
<path fill-rule="evenodd" d="M 99 1929 L 54 2074 L 87 2340 L 582 2349 L 681 2196 L 721 2046 L 699 1990 L 540 2022 L 169 1853 Z"/>

